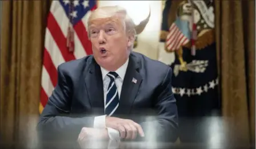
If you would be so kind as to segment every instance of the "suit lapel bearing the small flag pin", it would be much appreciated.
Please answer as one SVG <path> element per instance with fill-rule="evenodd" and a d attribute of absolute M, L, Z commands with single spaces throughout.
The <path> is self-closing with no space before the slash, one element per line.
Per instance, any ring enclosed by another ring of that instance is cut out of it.
<path fill-rule="evenodd" d="M 123 80 L 121 96 L 119 98 L 119 106 L 115 114 L 129 114 L 133 106 L 133 102 L 138 93 L 139 86 L 142 82 L 141 74 L 139 74 L 139 61 L 133 53 L 129 58 L 125 78 Z"/>

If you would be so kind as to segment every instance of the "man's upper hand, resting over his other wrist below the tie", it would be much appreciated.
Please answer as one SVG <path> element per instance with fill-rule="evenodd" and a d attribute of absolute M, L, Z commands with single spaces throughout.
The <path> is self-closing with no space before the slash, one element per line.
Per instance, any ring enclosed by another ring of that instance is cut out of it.
<path fill-rule="evenodd" d="M 125 139 L 135 139 L 137 133 L 139 133 L 141 137 L 144 136 L 141 125 L 131 121 L 130 119 L 106 117 L 106 127 L 118 130 L 121 138 Z"/>

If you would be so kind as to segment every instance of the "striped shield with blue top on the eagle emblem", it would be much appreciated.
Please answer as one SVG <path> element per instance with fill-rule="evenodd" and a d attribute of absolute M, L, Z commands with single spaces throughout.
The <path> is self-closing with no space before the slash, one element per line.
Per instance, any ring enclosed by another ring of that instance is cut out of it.
<path fill-rule="evenodd" d="M 166 37 L 166 47 L 168 51 L 175 51 L 188 43 L 189 40 L 189 22 L 178 17 L 169 29 L 169 34 Z"/>

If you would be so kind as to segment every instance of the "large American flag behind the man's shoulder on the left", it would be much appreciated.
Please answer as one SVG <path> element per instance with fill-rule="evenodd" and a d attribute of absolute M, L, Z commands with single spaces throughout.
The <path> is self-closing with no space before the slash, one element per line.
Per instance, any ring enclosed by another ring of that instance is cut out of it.
<path fill-rule="evenodd" d="M 57 85 L 57 67 L 92 53 L 87 37 L 87 19 L 97 1 L 52 1 L 47 18 L 39 112 Z"/>

